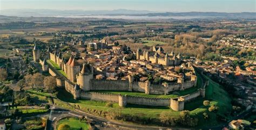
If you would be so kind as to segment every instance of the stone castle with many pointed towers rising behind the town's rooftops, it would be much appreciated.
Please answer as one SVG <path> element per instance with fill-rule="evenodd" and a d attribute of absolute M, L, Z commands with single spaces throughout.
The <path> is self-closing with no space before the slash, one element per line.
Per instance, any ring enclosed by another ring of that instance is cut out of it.
<path fill-rule="evenodd" d="M 150 61 L 151 63 L 162 64 L 163 66 L 179 66 L 181 64 L 180 54 L 174 52 L 165 53 L 162 47 L 153 46 L 152 52 L 138 48 L 136 52 L 136 60 Z"/>

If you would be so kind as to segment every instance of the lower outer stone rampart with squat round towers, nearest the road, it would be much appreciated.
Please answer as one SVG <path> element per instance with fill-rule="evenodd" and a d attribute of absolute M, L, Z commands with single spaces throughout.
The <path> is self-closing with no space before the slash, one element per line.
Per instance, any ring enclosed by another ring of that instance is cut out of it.
<path fill-rule="evenodd" d="M 206 85 L 206 84 L 205 84 Z M 205 86 L 204 86 L 205 87 Z M 126 104 L 137 104 L 147 106 L 170 106 L 174 111 L 184 110 L 184 104 L 197 97 L 205 97 L 205 88 L 198 89 L 197 91 L 185 96 L 177 98 L 147 98 L 129 95 L 118 95 L 113 93 L 104 92 L 88 92 L 82 90 L 75 90 L 74 84 L 65 81 L 65 89 L 70 92 L 75 99 L 89 99 L 105 102 L 118 103 L 119 106 L 126 106 Z"/>

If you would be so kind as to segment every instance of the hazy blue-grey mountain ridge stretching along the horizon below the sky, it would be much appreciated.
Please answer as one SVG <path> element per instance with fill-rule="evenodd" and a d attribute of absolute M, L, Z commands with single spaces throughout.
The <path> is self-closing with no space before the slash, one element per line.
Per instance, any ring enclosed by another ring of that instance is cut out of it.
<path fill-rule="evenodd" d="M 154 12 L 147 10 L 48 10 L 14 9 L 2 10 L 0 15 L 18 17 L 69 17 L 69 16 L 135 16 L 135 17 L 197 17 L 197 18 L 246 18 L 256 19 L 256 12 Z"/>

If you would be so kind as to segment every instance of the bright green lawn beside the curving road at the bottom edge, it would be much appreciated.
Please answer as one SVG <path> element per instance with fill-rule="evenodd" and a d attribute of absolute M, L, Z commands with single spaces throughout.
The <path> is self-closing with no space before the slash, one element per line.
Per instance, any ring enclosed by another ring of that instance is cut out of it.
<path fill-rule="evenodd" d="M 71 127 L 72 130 L 76 130 L 76 129 L 80 129 L 80 128 L 83 128 L 83 129 L 90 128 L 90 126 L 87 124 L 87 122 L 80 121 L 77 118 L 65 118 L 65 119 L 59 120 L 57 126 L 59 126 L 60 124 L 67 124 Z M 60 129 L 58 129 L 58 130 L 60 130 Z"/>

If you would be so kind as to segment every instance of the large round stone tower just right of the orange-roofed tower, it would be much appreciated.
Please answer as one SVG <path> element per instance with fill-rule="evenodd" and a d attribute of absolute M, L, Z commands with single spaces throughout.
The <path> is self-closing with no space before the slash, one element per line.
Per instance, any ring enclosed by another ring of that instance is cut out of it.
<path fill-rule="evenodd" d="M 82 70 L 77 75 L 77 84 L 80 86 L 80 89 L 84 91 L 90 91 L 92 79 L 93 79 L 93 68 L 90 70 L 86 68 L 85 64 L 83 64 Z"/>

